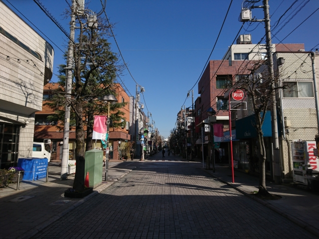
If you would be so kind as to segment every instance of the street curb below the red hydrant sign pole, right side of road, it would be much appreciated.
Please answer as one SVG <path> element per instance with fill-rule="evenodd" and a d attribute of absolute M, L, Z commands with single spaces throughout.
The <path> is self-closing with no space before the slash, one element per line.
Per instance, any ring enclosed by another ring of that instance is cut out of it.
<path fill-rule="evenodd" d="M 265 200 L 262 200 L 260 198 L 256 198 L 248 193 L 246 193 L 245 191 L 239 189 L 238 187 L 236 187 L 236 185 L 230 183 L 230 182 L 227 182 L 225 181 L 224 179 L 222 178 L 219 178 L 217 177 L 216 175 L 214 175 L 212 172 L 209 172 L 208 170 L 202 168 L 203 171 L 209 173 L 211 176 L 213 176 L 214 178 L 218 179 L 219 181 L 227 184 L 228 186 L 232 187 L 233 189 L 237 190 L 238 192 L 244 194 L 245 196 L 248 196 L 249 198 L 255 200 L 256 202 L 264 205 L 265 207 L 271 209 L 272 211 L 278 213 L 279 215 L 283 216 L 284 218 L 287 218 L 289 221 L 297 224 L 299 227 L 305 229 L 306 231 L 314 234 L 315 236 L 319 237 L 319 230 L 317 228 L 314 228 L 313 226 L 310 226 L 308 225 L 306 222 L 302 221 L 302 220 L 297 220 L 295 217 L 283 212 L 281 209 L 275 207 L 274 205 L 270 204 L 269 202 L 265 201 Z"/>

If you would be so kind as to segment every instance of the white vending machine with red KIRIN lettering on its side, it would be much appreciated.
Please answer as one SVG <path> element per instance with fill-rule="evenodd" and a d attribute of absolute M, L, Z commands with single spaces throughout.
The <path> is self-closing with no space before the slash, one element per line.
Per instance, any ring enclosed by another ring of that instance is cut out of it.
<path fill-rule="evenodd" d="M 307 169 L 319 170 L 319 159 L 314 155 L 316 141 L 293 141 L 293 174 L 294 182 L 308 185 Z"/>

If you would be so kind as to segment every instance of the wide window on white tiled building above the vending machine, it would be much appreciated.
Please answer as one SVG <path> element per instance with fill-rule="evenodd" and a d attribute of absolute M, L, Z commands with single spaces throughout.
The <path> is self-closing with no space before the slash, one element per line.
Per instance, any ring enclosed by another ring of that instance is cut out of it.
<path fill-rule="evenodd" d="M 284 82 L 284 98 L 309 98 L 314 97 L 314 86 L 311 81 Z"/>

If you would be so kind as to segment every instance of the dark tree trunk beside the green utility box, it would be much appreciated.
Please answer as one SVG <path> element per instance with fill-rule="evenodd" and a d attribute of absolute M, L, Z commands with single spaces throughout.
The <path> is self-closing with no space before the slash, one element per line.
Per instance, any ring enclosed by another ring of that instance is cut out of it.
<path fill-rule="evenodd" d="M 79 100 L 76 104 L 76 174 L 73 182 L 73 189 L 76 191 L 84 190 L 84 180 L 85 180 L 85 150 L 84 150 L 84 140 L 85 132 L 83 129 L 83 119 L 82 117 L 82 102 Z"/>

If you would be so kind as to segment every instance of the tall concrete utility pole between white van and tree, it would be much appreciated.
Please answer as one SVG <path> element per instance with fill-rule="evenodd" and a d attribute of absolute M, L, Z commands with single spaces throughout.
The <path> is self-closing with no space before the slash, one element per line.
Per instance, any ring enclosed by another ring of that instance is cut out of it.
<path fill-rule="evenodd" d="M 75 29 L 75 14 L 74 14 L 74 0 L 71 6 L 71 24 L 70 24 L 70 41 L 68 46 L 68 58 L 66 69 L 66 82 L 65 82 L 65 115 L 64 115 L 64 131 L 63 131 L 63 148 L 61 160 L 61 176 L 60 180 L 66 180 L 68 175 L 68 160 L 69 160 L 69 130 L 70 130 L 70 105 L 72 93 L 72 65 L 73 65 L 73 42 L 74 42 L 74 29 Z"/>

